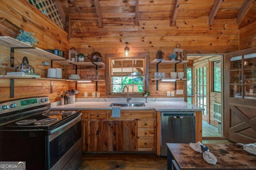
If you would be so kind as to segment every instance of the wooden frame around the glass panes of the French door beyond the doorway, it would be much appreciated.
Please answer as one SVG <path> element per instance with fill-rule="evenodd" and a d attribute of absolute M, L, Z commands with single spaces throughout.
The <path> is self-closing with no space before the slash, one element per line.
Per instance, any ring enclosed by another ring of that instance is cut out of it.
<path fill-rule="evenodd" d="M 210 110 L 209 110 L 209 81 L 207 81 L 209 78 L 209 62 L 206 63 L 200 63 L 197 65 L 193 65 L 193 80 L 194 80 L 194 104 L 196 105 L 196 93 L 197 93 L 197 88 L 196 88 L 196 68 L 200 67 L 206 67 L 206 115 L 202 113 L 202 119 L 206 121 L 207 123 L 210 123 Z"/>

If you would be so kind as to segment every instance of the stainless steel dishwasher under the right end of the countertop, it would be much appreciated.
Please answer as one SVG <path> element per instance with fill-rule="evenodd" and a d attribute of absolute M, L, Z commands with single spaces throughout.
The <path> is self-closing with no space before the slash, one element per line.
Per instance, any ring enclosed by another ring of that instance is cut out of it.
<path fill-rule="evenodd" d="M 161 112 L 161 155 L 167 156 L 166 143 L 195 143 L 194 112 Z"/>

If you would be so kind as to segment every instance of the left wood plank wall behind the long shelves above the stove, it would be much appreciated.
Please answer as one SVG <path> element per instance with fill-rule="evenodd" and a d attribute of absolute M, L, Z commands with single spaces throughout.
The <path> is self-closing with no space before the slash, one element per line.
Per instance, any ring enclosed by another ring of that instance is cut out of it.
<path fill-rule="evenodd" d="M 0 0 L 0 16 L 8 19 L 14 25 L 36 33 L 35 37 L 38 39 L 36 47 L 42 49 L 58 48 L 68 53 L 68 39 L 67 33 L 58 27 L 55 23 L 49 20 L 34 6 L 30 5 L 26 0 L 19 0 L 18 2 L 10 0 Z M 10 30 L 10 35 L 11 34 Z M 9 36 L 7 32 L 5 36 Z M 31 55 L 16 49 L 14 56 L 14 65 L 22 62 L 22 58 L 27 56 L 29 63 L 34 67 L 36 73 L 40 73 L 41 77 L 47 77 L 47 69 L 50 66 L 43 66 L 42 61 L 50 62 L 50 60 L 42 59 L 40 56 Z M 63 69 L 63 76 L 65 77 L 66 70 L 64 65 L 54 63 L 54 68 L 60 67 Z M 14 71 L 10 67 L 10 48 L 0 45 L 0 75 L 6 72 Z M 50 102 L 60 100 L 60 93 L 68 89 L 68 82 L 53 82 L 53 93 L 50 93 L 50 81 L 48 80 L 20 80 L 14 81 L 14 99 L 32 96 L 49 96 Z M 10 100 L 10 79 L 0 79 L 0 102 Z"/>

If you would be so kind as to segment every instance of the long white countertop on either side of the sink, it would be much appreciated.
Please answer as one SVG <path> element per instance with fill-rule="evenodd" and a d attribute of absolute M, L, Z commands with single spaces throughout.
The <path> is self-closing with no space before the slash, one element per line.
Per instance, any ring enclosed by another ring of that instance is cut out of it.
<path fill-rule="evenodd" d="M 51 105 L 51 109 L 112 109 L 113 102 L 75 102 L 62 106 Z M 118 102 L 119 103 L 119 102 Z M 154 109 L 156 111 L 203 111 L 204 109 L 187 102 L 148 102 L 145 107 L 121 107 L 121 109 Z"/>

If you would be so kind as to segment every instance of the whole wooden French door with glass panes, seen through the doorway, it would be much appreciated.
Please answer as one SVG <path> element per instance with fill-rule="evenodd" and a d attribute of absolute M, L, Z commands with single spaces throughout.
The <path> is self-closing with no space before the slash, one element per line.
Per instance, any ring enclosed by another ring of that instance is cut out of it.
<path fill-rule="evenodd" d="M 207 72 L 207 64 L 194 66 L 194 82 L 195 82 L 195 105 L 204 108 L 202 119 L 209 123 L 208 113 L 208 82 L 209 76 Z"/>

